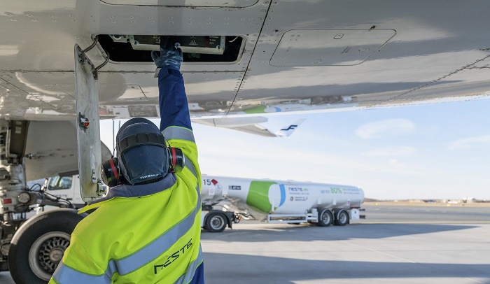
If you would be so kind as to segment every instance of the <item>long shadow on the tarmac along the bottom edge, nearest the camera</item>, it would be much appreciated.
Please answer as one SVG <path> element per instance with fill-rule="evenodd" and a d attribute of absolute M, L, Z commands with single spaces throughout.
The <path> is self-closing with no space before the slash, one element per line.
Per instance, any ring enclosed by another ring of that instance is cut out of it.
<path fill-rule="evenodd" d="M 298 260 L 259 255 L 204 253 L 206 281 L 221 283 L 297 283 L 321 279 L 479 278 L 490 283 L 490 264 L 434 264 Z M 253 274 L 250 272 L 254 271 Z M 460 279 L 461 280 L 461 279 Z M 318 282 L 319 283 L 319 282 Z"/>

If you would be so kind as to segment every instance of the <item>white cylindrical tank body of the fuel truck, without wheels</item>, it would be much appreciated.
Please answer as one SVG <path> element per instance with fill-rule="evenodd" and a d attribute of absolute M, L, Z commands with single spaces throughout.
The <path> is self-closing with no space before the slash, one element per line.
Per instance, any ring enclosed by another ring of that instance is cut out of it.
<path fill-rule="evenodd" d="M 364 192 L 351 185 L 202 176 L 202 202 L 216 204 L 223 197 L 257 213 L 302 214 L 311 208 L 359 208 Z"/>

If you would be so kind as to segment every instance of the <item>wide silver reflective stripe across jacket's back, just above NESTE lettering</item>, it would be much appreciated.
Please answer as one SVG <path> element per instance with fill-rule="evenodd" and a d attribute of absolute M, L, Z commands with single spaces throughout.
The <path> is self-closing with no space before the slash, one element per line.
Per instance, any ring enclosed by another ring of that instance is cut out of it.
<path fill-rule="evenodd" d="M 120 260 L 110 260 L 105 274 L 100 276 L 84 274 L 83 272 L 76 271 L 75 269 L 71 269 L 70 267 L 66 267 L 66 265 L 60 262 L 60 267 L 55 271 L 53 277 L 58 283 L 104 284 L 112 283 L 111 277 L 114 273 L 116 273 L 116 271 L 119 275 L 122 276 L 125 274 L 130 274 L 132 271 L 144 267 L 144 265 L 152 262 L 157 257 L 162 255 L 162 252 L 168 250 L 174 243 L 176 243 L 176 241 L 181 239 L 181 237 L 186 234 L 186 232 L 192 229 L 196 215 L 201 208 L 199 187 L 196 187 L 196 190 L 198 197 L 197 206 L 186 218 L 179 222 L 179 224 L 172 227 L 172 229 L 169 229 L 167 232 L 162 234 L 160 237 L 158 237 L 158 239 L 155 239 L 151 243 L 148 243 L 146 247 L 138 250 L 136 253 L 133 253 L 132 255 Z M 193 271 L 195 271 L 195 267 Z"/>

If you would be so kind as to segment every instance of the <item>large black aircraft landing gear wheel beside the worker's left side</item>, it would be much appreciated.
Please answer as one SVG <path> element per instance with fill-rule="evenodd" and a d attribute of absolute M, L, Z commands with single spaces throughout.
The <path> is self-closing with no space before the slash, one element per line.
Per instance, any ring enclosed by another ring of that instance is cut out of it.
<path fill-rule="evenodd" d="M 48 283 L 70 245 L 70 235 L 85 215 L 48 211 L 27 220 L 13 236 L 8 269 L 15 283 Z"/>

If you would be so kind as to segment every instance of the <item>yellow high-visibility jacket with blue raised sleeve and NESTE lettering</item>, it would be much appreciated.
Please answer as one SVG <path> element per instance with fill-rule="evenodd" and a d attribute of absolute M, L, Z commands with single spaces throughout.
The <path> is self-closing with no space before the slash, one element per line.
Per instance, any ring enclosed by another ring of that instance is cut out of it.
<path fill-rule="evenodd" d="M 201 173 L 181 73 L 159 73 L 160 130 L 181 148 L 180 173 L 144 185 L 118 185 L 73 231 L 50 284 L 204 283 L 200 248 Z"/>

